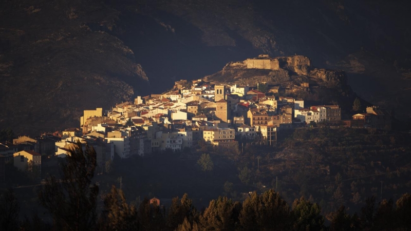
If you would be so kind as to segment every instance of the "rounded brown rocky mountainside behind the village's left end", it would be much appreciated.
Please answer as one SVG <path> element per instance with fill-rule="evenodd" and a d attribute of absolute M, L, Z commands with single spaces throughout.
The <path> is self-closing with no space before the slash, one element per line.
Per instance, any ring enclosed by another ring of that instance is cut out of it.
<path fill-rule="evenodd" d="M 25 4 L 0 4 L 0 127 L 29 134 L 78 127 L 84 109 L 107 109 L 150 86 L 132 50 L 84 24 L 103 19 L 92 13 L 98 6 Z"/>

